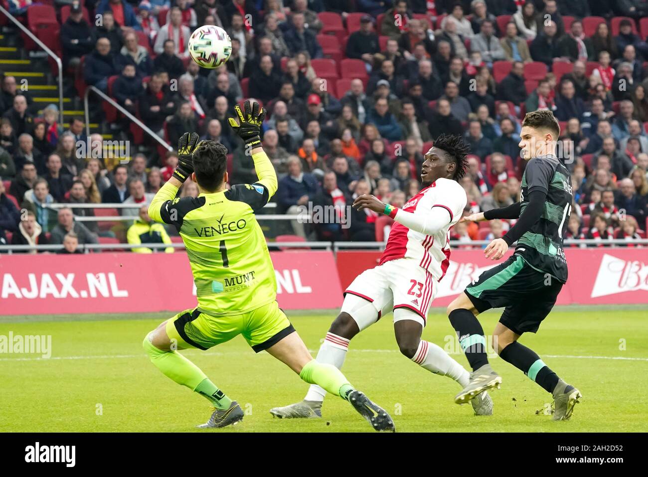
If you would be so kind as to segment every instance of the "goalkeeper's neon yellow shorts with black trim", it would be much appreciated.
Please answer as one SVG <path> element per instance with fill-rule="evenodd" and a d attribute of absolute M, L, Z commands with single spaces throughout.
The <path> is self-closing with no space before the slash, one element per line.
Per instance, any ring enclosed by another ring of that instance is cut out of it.
<path fill-rule="evenodd" d="M 206 350 L 243 335 L 255 352 L 270 348 L 295 331 L 276 301 L 235 315 L 213 316 L 198 309 L 178 313 L 166 325 L 167 336 L 178 349 Z"/>

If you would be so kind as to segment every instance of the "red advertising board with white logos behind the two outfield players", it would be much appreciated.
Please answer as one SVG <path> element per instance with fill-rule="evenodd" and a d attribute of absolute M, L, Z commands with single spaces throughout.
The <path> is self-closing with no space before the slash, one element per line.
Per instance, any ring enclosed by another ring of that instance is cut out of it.
<path fill-rule="evenodd" d="M 380 252 L 340 251 L 338 273 L 342 289 L 367 268 Z M 569 279 L 558 304 L 648 304 L 648 249 L 566 249 Z M 439 282 L 432 306 L 446 306 L 484 270 L 501 263 L 484 258 L 481 250 L 453 250 L 450 266 Z"/>

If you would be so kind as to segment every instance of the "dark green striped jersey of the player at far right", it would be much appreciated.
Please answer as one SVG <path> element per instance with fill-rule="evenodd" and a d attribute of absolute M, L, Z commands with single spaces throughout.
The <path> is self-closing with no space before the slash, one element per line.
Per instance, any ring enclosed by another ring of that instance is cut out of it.
<path fill-rule="evenodd" d="M 555 156 L 529 160 L 522 175 L 520 215 L 529 203 L 532 191 L 546 193 L 540 218 L 525 232 L 515 249 L 531 267 L 567 281 L 567 261 L 562 239 L 572 212 L 572 180 L 567 168 Z"/>

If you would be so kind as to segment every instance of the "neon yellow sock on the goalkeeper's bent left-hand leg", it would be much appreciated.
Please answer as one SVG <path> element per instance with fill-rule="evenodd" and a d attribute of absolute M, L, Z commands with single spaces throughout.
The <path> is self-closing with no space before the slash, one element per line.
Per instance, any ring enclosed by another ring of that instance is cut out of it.
<path fill-rule="evenodd" d="M 165 376 L 207 398 L 218 409 L 228 409 L 231 406 L 232 400 L 218 389 L 198 366 L 187 360 L 178 351 L 157 349 L 149 341 L 148 336 L 145 337 L 142 347 L 146 350 L 151 362 Z"/>

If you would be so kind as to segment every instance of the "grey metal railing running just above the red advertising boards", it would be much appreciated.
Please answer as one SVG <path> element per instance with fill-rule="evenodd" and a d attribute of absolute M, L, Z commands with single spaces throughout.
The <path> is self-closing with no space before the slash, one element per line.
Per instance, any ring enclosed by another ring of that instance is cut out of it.
<path fill-rule="evenodd" d="M 458 242 L 456 240 L 450 240 L 450 247 L 453 250 L 462 250 L 462 249 L 481 249 L 491 243 L 490 240 L 475 240 L 469 243 Z M 387 245 L 386 242 L 332 242 L 332 241 L 305 241 L 305 242 L 267 242 L 268 248 L 270 249 L 323 249 L 326 251 L 332 251 L 335 254 L 343 249 L 384 249 Z M 601 245 L 603 244 L 605 248 L 612 248 L 615 245 L 641 245 L 648 246 L 648 239 L 633 239 L 628 241 L 625 239 L 612 239 L 612 240 L 596 240 L 596 239 L 566 239 L 564 245 L 566 248 L 571 245 Z M 612 246 L 612 247 L 608 247 Z M 173 243 L 86 243 L 78 245 L 78 249 L 83 252 L 90 251 L 129 251 L 133 248 L 148 248 L 148 249 L 166 249 L 172 247 L 174 249 L 184 249 L 184 243 L 173 242 Z M 56 252 L 60 251 L 63 248 L 63 245 L 0 245 L 0 252 L 29 252 L 36 250 L 39 252 Z M 625 247 L 623 247 L 625 248 Z M 512 250 L 512 249 L 511 249 Z"/>

